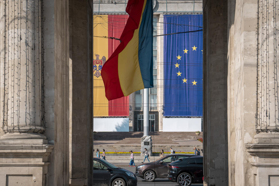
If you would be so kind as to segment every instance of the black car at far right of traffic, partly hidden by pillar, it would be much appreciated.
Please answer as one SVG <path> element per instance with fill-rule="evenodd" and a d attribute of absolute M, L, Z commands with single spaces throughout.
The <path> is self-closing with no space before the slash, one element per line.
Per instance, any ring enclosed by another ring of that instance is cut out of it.
<path fill-rule="evenodd" d="M 168 179 L 180 186 L 203 183 L 203 157 L 182 158 L 169 163 Z"/>

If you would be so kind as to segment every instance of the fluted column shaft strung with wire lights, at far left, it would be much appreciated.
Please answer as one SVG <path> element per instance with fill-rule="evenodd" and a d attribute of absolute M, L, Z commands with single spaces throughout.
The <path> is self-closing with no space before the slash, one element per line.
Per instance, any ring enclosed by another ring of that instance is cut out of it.
<path fill-rule="evenodd" d="M 42 1 L 6 0 L 2 129 L 14 137 L 41 138 L 45 130 Z M 2 10 L 3 10 L 2 9 Z M 36 133 L 36 135 L 35 135 Z M 33 135 L 32 137 L 30 135 Z"/>

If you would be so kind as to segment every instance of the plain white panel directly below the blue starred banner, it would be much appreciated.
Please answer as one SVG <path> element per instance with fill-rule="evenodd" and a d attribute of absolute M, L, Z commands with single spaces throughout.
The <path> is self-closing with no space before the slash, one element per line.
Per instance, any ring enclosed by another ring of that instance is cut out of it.
<path fill-rule="evenodd" d="M 163 118 L 163 132 L 201 131 L 201 118 Z"/>

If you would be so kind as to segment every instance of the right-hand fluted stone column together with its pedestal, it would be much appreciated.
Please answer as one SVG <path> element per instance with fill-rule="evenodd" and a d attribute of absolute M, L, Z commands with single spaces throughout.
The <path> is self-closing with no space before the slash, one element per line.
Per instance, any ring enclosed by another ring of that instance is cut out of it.
<path fill-rule="evenodd" d="M 279 181 L 279 2 L 258 1 L 257 105 L 255 135 L 245 144 L 253 157 L 251 185 L 277 185 Z"/>

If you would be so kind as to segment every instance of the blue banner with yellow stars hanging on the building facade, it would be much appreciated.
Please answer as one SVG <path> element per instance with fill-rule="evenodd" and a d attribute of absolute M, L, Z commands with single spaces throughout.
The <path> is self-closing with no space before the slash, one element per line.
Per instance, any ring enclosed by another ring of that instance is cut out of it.
<path fill-rule="evenodd" d="M 203 15 L 164 15 L 164 116 L 203 115 Z M 189 33 L 179 33 L 197 31 Z"/>

